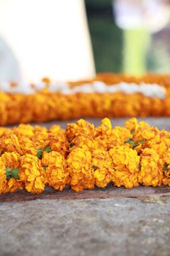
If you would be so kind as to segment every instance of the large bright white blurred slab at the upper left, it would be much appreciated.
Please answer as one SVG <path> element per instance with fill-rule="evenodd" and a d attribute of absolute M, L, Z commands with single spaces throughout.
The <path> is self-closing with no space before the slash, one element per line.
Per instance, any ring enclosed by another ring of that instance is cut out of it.
<path fill-rule="evenodd" d="M 83 0 L 0 0 L 0 36 L 17 58 L 22 80 L 94 76 Z M 0 67 L 0 81 L 4 73 Z"/>

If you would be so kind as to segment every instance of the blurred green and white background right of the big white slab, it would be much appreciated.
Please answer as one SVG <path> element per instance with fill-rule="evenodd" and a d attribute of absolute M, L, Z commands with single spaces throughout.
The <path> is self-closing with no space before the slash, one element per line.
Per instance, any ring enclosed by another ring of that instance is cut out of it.
<path fill-rule="evenodd" d="M 97 72 L 170 72 L 170 1 L 86 0 Z"/>

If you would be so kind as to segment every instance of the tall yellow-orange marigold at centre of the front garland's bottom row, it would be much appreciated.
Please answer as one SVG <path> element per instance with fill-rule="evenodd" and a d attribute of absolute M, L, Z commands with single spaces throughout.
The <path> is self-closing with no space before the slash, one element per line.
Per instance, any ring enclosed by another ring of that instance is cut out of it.
<path fill-rule="evenodd" d="M 82 191 L 94 189 L 94 169 L 92 168 L 92 154 L 83 148 L 75 148 L 68 155 L 67 170 L 71 176 L 71 189 Z"/>

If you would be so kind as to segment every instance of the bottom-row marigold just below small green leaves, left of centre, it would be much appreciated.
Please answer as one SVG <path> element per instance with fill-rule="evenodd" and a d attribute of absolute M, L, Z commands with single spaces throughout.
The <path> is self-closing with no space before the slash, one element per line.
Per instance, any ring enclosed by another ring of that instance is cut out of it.
<path fill-rule="evenodd" d="M 69 172 L 66 170 L 65 158 L 59 152 L 43 152 L 42 166 L 46 170 L 49 186 L 62 191 L 69 183 Z"/>

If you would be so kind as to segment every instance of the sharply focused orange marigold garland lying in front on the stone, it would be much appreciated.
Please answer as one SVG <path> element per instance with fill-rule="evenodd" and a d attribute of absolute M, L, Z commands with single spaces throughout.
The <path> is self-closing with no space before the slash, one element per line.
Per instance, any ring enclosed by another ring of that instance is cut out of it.
<path fill-rule="evenodd" d="M 82 191 L 109 183 L 128 189 L 170 186 L 170 132 L 134 118 L 114 128 L 107 118 L 97 128 L 83 119 L 66 130 L 0 128 L 0 193 L 38 194 L 45 185 Z"/>

